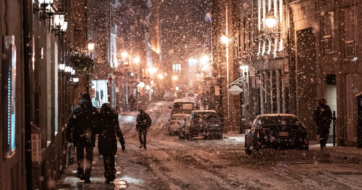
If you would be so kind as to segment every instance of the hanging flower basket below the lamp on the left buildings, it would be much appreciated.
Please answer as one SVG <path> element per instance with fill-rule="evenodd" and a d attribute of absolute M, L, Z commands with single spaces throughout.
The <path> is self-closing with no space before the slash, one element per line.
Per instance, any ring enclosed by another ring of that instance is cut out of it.
<path fill-rule="evenodd" d="M 82 52 L 75 52 L 71 54 L 70 60 L 78 76 L 93 72 L 94 60 L 89 55 Z"/>

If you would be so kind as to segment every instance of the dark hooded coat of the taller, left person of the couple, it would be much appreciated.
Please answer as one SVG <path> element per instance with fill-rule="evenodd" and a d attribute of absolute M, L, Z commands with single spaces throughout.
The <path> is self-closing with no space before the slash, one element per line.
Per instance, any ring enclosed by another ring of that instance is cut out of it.
<path fill-rule="evenodd" d="M 89 99 L 83 98 L 79 101 L 72 113 L 68 117 L 67 139 L 76 147 L 95 147 L 96 146 L 96 122 L 98 119 L 98 110 L 93 107 Z"/>

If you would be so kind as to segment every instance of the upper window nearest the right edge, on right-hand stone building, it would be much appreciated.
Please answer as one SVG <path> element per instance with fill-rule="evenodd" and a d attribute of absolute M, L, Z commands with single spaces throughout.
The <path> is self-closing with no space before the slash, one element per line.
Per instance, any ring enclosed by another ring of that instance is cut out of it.
<path fill-rule="evenodd" d="M 345 9 L 345 58 L 357 60 L 356 5 Z"/>

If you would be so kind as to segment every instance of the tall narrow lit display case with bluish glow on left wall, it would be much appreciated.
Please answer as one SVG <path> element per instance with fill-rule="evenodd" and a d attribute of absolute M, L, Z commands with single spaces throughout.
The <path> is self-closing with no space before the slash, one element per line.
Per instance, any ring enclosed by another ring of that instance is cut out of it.
<path fill-rule="evenodd" d="M 13 36 L 4 37 L 3 84 L 4 97 L 7 105 L 4 106 L 4 118 L 7 122 L 7 131 L 3 133 L 4 158 L 10 158 L 15 153 L 15 89 L 16 89 L 16 47 Z M 5 116 L 6 115 L 6 116 Z"/>

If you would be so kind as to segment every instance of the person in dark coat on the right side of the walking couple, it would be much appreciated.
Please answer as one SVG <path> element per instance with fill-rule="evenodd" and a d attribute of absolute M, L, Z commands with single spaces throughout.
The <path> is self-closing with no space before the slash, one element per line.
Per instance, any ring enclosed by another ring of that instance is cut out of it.
<path fill-rule="evenodd" d="M 122 151 L 125 151 L 125 140 L 121 129 L 119 128 L 118 114 L 108 103 L 102 104 L 99 114 L 98 128 L 98 151 L 103 155 L 105 183 L 115 180 L 115 161 L 114 155 L 117 153 L 117 139 L 122 145 Z"/>

